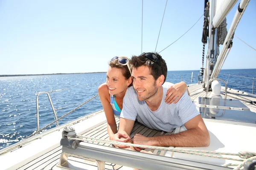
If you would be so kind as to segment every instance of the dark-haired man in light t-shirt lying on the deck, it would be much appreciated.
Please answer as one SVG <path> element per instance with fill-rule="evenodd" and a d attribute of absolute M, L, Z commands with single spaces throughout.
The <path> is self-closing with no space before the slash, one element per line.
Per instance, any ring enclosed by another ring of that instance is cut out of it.
<path fill-rule="evenodd" d="M 168 90 L 162 87 L 167 76 L 165 60 L 157 53 L 144 53 L 133 56 L 131 65 L 133 87 L 128 88 L 123 99 L 119 130 L 114 140 L 124 141 L 123 138 L 128 138 L 137 119 L 138 122 L 155 130 L 170 133 L 182 125 L 187 130 L 156 137 L 136 134 L 134 144 L 163 147 L 209 146 L 207 127 L 187 93 L 184 93 L 176 104 L 168 105 L 164 102 L 164 94 Z"/>

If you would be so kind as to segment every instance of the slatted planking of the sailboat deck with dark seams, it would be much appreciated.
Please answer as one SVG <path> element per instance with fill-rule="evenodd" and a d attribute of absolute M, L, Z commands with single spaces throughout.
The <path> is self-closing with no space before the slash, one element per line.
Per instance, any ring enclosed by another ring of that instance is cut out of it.
<path fill-rule="evenodd" d="M 203 88 L 201 85 L 193 85 L 193 86 L 189 87 L 189 92 L 190 92 L 190 96 L 191 96 L 192 100 L 196 100 L 196 99 L 198 99 L 198 97 L 205 97 L 205 95 L 206 95 L 206 92 L 203 91 Z M 221 96 L 224 98 L 224 88 L 222 88 L 222 92 L 223 93 L 221 94 Z M 256 98 L 246 96 L 239 92 L 228 90 L 227 99 L 239 99 L 242 103 L 244 103 L 244 105 L 246 105 L 248 108 L 250 108 L 250 111 L 253 111 L 256 113 L 256 104 L 254 104 L 254 103 L 250 104 L 250 101 L 256 101 Z M 116 119 L 116 124 L 119 125 L 119 119 Z M 163 134 L 163 132 L 161 132 L 161 131 L 152 130 L 138 122 L 135 122 L 135 124 L 134 124 L 134 128 L 131 132 L 131 138 L 133 138 L 136 133 L 139 133 L 143 136 L 148 136 L 148 137 L 159 136 L 159 135 Z M 95 127 L 92 130 L 89 130 L 88 132 L 84 133 L 83 135 L 95 137 L 95 138 L 99 138 L 99 139 L 109 139 L 108 132 L 107 132 L 107 123 L 103 123 L 102 125 L 99 125 L 98 127 Z M 97 144 L 107 145 L 107 146 L 111 145 L 111 144 L 103 144 L 103 143 L 97 143 Z M 61 146 L 56 147 L 55 149 L 51 150 L 50 152 L 48 152 L 38 158 L 35 158 L 33 161 L 30 161 L 28 164 L 20 167 L 18 170 L 58 169 L 58 167 L 56 167 L 56 164 L 59 163 L 60 155 L 62 153 L 61 149 L 62 149 Z M 79 159 L 76 157 L 69 157 L 68 160 L 73 162 L 74 164 L 79 163 L 79 162 L 83 163 L 84 168 L 86 168 L 88 166 L 87 163 L 84 163 L 83 159 Z M 96 164 L 94 164 L 93 162 L 90 163 L 90 169 L 92 168 L 92 166 L 95 167 L 95 169 L 96 169 Z M 105 167 L 108 170 L 116 170 L 122 166 L 106 162 Z"/>

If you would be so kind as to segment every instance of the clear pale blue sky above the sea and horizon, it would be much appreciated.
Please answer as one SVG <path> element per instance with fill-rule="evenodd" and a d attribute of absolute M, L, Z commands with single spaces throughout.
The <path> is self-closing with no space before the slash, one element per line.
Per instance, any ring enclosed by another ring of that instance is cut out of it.
<path fill-rule="evenodd" d="M 227 28 L 234 6 L 227 16 Z M 143 52 L 154 51 L 166 0 L 144 0 Z M 184 34 L 203 14 L 204 0 L 169 0 L 157 51 Z M 0 75 L 107 71 L 114 56 L 141 53 L 141 0 L 0 1 Z M 199 70 L 201 20 L 160 54 L 168 70 Z M 256 0 L 236 35 L 256 48 Z M 223 69 L 256 68 L 256 51 L 234 37 Z"/>

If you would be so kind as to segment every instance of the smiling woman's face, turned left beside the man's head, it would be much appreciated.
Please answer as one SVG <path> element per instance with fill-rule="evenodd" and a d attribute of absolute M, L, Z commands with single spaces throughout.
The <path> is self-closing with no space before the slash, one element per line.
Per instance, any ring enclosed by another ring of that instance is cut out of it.
<path fill-rule="evenodd" d="M 108 67 L 106 83 L 109 94 L 119 94 L 128 87 L 128 79 L 122 75 L 120 68 Z"/>

